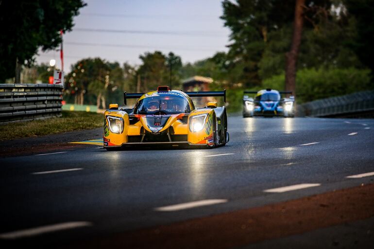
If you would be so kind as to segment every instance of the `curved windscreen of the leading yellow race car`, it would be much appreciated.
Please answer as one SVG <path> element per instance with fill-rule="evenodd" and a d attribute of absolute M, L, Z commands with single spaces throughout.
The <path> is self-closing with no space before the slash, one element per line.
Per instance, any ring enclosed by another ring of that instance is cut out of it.
<path fill-rule="evenodd" d="M 183 97 L 161 95 L 147 97 L 136 103 L 134 114 L 168 115 L 190 113 L 188 102 Z"/>

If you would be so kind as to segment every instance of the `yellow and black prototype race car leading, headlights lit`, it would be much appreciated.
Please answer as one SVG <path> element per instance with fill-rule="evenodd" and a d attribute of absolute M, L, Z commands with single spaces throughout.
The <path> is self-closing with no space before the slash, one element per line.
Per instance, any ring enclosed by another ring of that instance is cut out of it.
<path fill-rule="evenodd" d="M 105 149 L 134 145 L 224 146 L 229 141 L 224 106 L 208 102 L 195 108 L 191 97 L 224 97 L 226 90 L 183 92 L 159 86 L 147 93 L 124 92 L 127 99 L 138 99 L 133 109 L 110 104 L 105 111 Z"/>

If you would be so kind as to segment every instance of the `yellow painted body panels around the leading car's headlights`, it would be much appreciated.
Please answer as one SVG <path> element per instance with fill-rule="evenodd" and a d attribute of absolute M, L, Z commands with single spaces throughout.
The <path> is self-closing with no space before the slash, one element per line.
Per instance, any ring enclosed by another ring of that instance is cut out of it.
<path fill-rule="evenodd" d="M 141 96 L 139 100 L 142 100 L 147 97 L 152 97 L 152 95 L 154 94 L 157 94 L 157 91 L 148 92 L 144 94 L 143 96 Z M 193 110 L 194 109 L 193 102 L 187 95 L 186 95 L 186 99 L 188 100 L 190 104 L 191 110 Z M 207 114 L 207 118 L 205 120 L 203 129 L 199 132 L 192 132 L 189 129 L 189 121 L 190 121 L 191 116 L 202 115 L 202 114 Z M 215 118 L 214 110 L 211 108 L 193 110 L 188 116 L 187 124 L 185 122 L 182 122 L 181 120 L 182 117 L 185 115 L 188 115 L 188 114 L 182 113 L 182 114 L 171 115 L 169 120 L 164 125 L 164 127 L 159 131 L 159 133 L 162 133 L 170 129 L 170 127 L 172 127 L 174 131 L 173 134 L 187 135 L 186 144 L 188 142 L 188 144 L 190 145 L 214 146 L 213 125 L 216 123 L 216 122 L 213 122 L 213 118 Z M 147 117 L 145 115 L 132 115 L 132 117 L 135 116 L 134 118 L 137 118 L 137 121 L 132 122 L 133 124 L 130 124 L 129 115 L 125 111 L 107 110 L 105 111 L 104 116 L 105 116 L 104 133 L 103 133 L 104 147 L 112 147 L 112 146 L 115 147 L 115 146 L 125 145 L 126 143 L 128 143 L 130 136 L 142 135 L 142 129 L 144 129 L 145 131 L 149 133 L 152 133 L 152 131 L 147 125 Z M 114 116 L 114 117 L 119 117 L 123 119 L 123 132 L 122 133 L 117 134 L 117 133 L 113 133 L 110 131 L 108 118 L 107 118 L 108 116 Z"/>

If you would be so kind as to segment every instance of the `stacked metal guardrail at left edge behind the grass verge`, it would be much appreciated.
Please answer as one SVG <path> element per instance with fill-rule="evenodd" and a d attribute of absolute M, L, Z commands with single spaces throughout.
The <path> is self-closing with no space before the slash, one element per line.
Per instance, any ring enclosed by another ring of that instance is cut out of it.
<path fill-rule="evenodd" d="M 0 84 L 0 124 L 61 116 L 62 85 Z"/>

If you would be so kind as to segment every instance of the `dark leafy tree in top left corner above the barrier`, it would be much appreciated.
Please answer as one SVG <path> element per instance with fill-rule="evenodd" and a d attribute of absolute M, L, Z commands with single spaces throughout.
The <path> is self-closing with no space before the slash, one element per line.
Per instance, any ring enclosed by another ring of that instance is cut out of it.
<path fill-rule="evenodd" d="M 60 31 L 71 31 L 82 0 L 0 1 L 0 82 L 16 76 L 22 65 L 32 65 L 38 49 L 55 49 Z M 17 69 L 17 74 L 16 74 Z"/>

